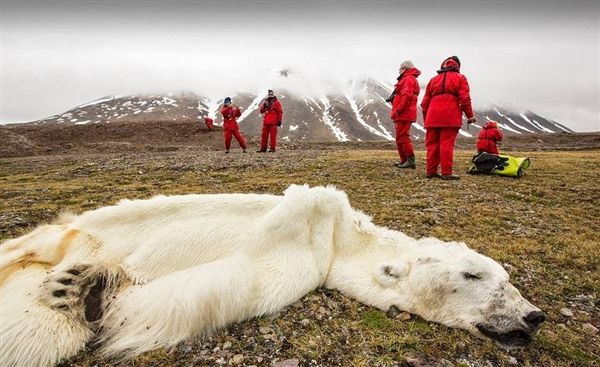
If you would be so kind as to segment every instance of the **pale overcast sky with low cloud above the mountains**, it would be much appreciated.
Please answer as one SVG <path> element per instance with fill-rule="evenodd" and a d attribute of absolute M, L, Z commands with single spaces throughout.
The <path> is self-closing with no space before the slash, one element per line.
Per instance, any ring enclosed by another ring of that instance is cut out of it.
<path fill-rule="evenodd" d="M 600 130 L 600 1 L 1 0 L 2 123 L 106 95 L 278 86 L 320 93 L 352 77 L 425 85 L 458 55 L 475 107 L 532 110 Z M 289 83 L 289 82 L 288 82 Z"/>

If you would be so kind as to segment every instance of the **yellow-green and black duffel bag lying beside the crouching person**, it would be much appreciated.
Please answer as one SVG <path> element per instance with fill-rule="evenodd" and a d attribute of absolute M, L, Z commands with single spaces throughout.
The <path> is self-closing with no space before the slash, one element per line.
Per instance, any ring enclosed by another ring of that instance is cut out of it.
<path fill-rule="evenodd" d="M 473 157 L 473 166 L 467 171 L 472 174 L 495 174 L 508 177 L 521 177 L 529 168 L 529 158 L 511 157 L 481 152 Z"/>

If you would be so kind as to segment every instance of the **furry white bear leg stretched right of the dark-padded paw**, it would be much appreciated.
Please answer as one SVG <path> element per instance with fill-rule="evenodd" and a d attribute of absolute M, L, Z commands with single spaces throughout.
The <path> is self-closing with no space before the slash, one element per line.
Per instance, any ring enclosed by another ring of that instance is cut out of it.
<path fill-rule="evenodd" d="M 103 353 L 132 357 L 258 316 L 260 282 L 256 265 L 234 256 L 125 288 L 103 318 Z"/>

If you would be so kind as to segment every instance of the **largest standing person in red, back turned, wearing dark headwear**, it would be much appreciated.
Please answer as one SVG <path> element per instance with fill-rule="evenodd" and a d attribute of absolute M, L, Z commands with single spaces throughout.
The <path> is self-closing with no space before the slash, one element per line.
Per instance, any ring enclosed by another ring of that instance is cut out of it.
<path fill-rule="evenodd" d="M 467 123 L 475 120 L 467 78 L 460 73 L 460 60 L 451 56 L 442 62 L 438 75 L 431 78 L 421 102 L 425 121 L 427 148 L 427 178 L 458 180 L 452 174 L 454 141 L 462 126 L 462 114 Z M 442 174 L 438 174 L 441 166 Z"/>

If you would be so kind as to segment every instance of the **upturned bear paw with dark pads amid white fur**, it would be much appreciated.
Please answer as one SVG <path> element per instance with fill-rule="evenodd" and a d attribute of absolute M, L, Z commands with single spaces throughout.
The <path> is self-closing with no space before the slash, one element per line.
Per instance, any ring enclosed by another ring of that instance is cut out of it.
<path fill-rule="evenodd" d="M 94 324 L 103 315 L 109 276 L 107 269 L 88 264 L 55 271 L 44 282 L 42 299 L 55 311 Z"/>

